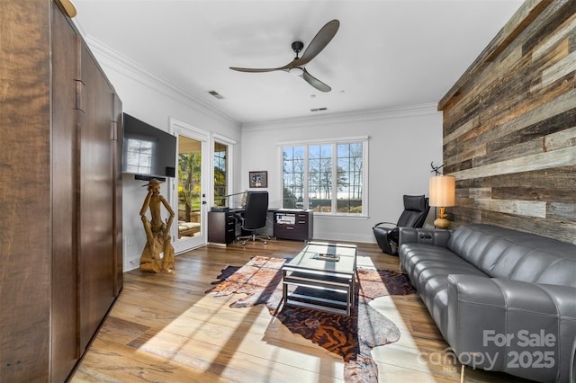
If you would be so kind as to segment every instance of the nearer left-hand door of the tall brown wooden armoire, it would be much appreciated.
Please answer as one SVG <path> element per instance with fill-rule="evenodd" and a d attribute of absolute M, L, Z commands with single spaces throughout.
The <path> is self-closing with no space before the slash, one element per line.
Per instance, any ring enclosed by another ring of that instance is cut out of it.
<path fill-rule="evenodd" d="M 80 357 L 77 342 L 75 169 L 79 39 L 52 3 L 51 381 L 65 381 Z"/>

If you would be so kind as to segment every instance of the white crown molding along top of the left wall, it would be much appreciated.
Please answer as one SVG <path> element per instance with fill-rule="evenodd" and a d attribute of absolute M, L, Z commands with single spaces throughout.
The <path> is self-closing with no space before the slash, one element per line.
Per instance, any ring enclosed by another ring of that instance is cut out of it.
<path fill-rule="evenodd" d="M 90 50 L 97 57 L 98 63 L 101 67 L 108 67 L 116 72 L 121 73 L 123 76 L 127 76 L 130 79 L 138 82 L 141 85 L 145 85 L 148 88 L 166 95 L 176 102 L 180 102 L 194 111 L 198 111 L 208 117 L 225 120 L 226 122 L 231 122 L 241 127 L 241 122 L 234 120 L 229 115 L 222 113 L 205 102 L 198 100 L 192 94 L 185 92 L 183 89 L 168 83 L 161 77 L 156 76 L 152 72 L 148 71 L 145 67 L 140 66 L 137 62 L 130 60 L 121 55 L 118 51 L 108 47 L 101 41 L 96 40 L 90 36 L 85 36 L 84 39 Z"/>

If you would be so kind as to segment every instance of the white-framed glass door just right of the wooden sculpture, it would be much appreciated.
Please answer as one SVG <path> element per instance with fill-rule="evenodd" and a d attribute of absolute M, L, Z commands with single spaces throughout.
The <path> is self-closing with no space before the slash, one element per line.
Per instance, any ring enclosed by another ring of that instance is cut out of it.
<path fill-rule="evenodd" d="M 172 120 L 178 151 L 171 185 L 171 205 L 177 225 L 172 227 L 175 254 L 206 245 L 206 218 L 210 192 L 209 135 L 184 122 Z"/>

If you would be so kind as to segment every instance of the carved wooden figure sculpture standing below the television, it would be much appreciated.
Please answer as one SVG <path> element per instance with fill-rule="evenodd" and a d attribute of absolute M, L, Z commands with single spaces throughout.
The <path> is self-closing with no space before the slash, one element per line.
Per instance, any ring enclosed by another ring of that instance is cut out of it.
<path fill-rule="evenodd" d="M 140 217 L 146 231 L 146 246 L 140 256 L 140 270 L 142 272 L 169 272 L 174 273 L 174 247 L 172 247 L 169 235 L 172 221 L 174 220 L 174 210 L 170 207 L 166 199 L 160 194 L 160 182 L 152 178 L 148 186 L 148 195 L 144 200 Z M 160 216 L 161 205 L 170 213 L 170 218 L 166 223 L 162 222 Z M 151 220 L 146 216 L 150 209 Z"/>

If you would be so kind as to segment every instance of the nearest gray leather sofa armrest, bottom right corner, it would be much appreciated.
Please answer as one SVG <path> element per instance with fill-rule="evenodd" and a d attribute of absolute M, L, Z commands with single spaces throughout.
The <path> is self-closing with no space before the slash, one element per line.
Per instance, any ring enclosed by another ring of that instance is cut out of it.
<path fill-rule="evenodd" d="M 448 276 L 447 341 L 458 359 L 536 381 L 569 381 L 576 288 Z"/>

